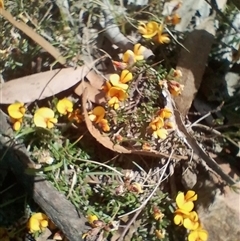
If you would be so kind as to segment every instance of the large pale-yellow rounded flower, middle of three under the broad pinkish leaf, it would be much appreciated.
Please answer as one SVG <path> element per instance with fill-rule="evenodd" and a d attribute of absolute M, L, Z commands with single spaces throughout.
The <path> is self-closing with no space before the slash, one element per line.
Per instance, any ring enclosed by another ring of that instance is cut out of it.
<path fill-rule="evenodd" d="M 57 119 L 54 118 L 54 112 L 48 107 L 42 107 L 36 110 L 33 117 L 34 124 L 37 127 L 53 128 L 54 124 L 57 123 Z"/>

